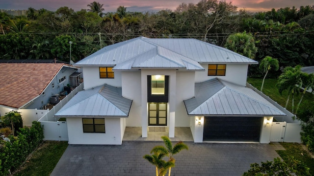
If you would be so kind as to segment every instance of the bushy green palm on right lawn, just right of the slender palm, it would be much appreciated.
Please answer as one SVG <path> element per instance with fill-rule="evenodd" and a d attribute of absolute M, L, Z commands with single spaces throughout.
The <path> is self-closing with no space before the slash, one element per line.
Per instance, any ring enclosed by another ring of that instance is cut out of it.
<path fill-rule="evenodd" d="M 276 85 L 280 94 L 282 94 L 284 90 L 288 90 L 288 99 L 285 108 L 287 108 L 289 97 L 292 95 L 292 113 L 294 109 L 294 93 L 299 93 L 299 88 L 302 85 L 301 73 L 301 66 L 298 65 L 294 68 L 288 66 L 278 77 L 278 83 Z"/>

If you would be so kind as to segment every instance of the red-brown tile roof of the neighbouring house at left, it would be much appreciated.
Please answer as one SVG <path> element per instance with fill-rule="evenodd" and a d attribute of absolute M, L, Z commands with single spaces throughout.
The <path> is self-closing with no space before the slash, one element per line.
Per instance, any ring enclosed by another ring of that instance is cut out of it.
<path fill-rule="evenodd" d="M 40 95 L 64 65 L 0 63 L 0 105 L 21 108 Z"/>

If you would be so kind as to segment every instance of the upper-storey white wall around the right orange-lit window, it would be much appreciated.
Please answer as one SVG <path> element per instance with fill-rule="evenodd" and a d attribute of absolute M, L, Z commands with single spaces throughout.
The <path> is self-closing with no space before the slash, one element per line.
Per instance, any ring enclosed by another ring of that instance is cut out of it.
<path fill-rule="evenodd" d="M 204 82 L 212 78 L 220 78 L 226 81 L 233 82 L 235 84 L 245 86 L 247 78 L 247 64 L 227 64 L 226 76 L 208 76 L 208 64 L 201 64 L 205 68 L 205 71 L 195 72 L 195 82 Z"/>

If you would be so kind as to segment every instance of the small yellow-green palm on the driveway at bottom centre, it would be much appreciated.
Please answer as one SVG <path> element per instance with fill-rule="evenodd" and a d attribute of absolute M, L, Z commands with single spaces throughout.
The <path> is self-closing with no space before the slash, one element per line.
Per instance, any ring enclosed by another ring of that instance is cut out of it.
<path fill-rule="evenodd" d="M 146 154 L 144 155 L 144 158 L 156 166 L 156 176 L 164 176 L 168 170 L 168 176 L 170 176 L 171 168 L 175 167 L 176 162 L 173 155 L 178 154 L 183 149 L 188 150 L 188 147 L 182 141 L 179 141 L 172 147 L 172 143 L 167 136 L 161 136 L 161 138 L 166 147 L 155 146 L 151 151 L 152 155 Z M 169 157 L 168 161 L 162 159 L 164 156 Z"/>

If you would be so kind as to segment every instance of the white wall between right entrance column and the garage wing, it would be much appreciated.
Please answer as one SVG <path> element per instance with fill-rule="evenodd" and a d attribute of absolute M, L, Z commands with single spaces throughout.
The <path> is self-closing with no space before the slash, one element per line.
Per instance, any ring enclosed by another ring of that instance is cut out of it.
<path fill-rule="evenodd" d="M 176 122 L 175 127 L 189 127 L 190 117 L 187 116 L 183 100 L 194 96 L 194 71 L 178 71 L 176 83 Z"/>

